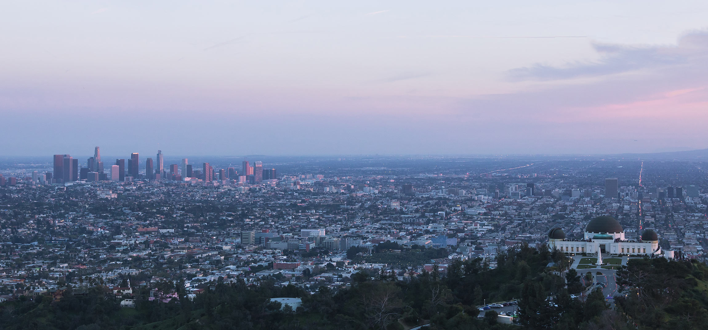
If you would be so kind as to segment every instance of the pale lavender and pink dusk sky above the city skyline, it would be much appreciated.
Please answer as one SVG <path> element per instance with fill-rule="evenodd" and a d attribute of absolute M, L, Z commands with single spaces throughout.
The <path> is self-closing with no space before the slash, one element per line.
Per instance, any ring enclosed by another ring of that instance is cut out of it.
<path fill-rule="evenodd" d="M 708 1 L 5 1 L 0 155 L 708 148 Z"/>

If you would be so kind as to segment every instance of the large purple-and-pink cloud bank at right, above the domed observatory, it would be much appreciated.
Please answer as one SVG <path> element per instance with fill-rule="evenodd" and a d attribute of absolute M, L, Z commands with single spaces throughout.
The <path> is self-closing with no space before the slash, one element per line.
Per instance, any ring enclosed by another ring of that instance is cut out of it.
<path fill-rule="evenodd" d="M 474 115 L 479 122 L 571 128 L 568 133 L 578 135 L 622 125 L 626 132 L 644 134 L 649 127 L 678 129 L 708 120 L 708 31 L 680 37 L 677 45 L 595 49 L 604 56 L 590 63 L 514 69 L 509 74 L 518 81 L 563 83 L 535 83 L 513 93 L 480 96 L 463 102 L 459 114 Z M 630 122 L 641 129 L 630 129 Z"/>

